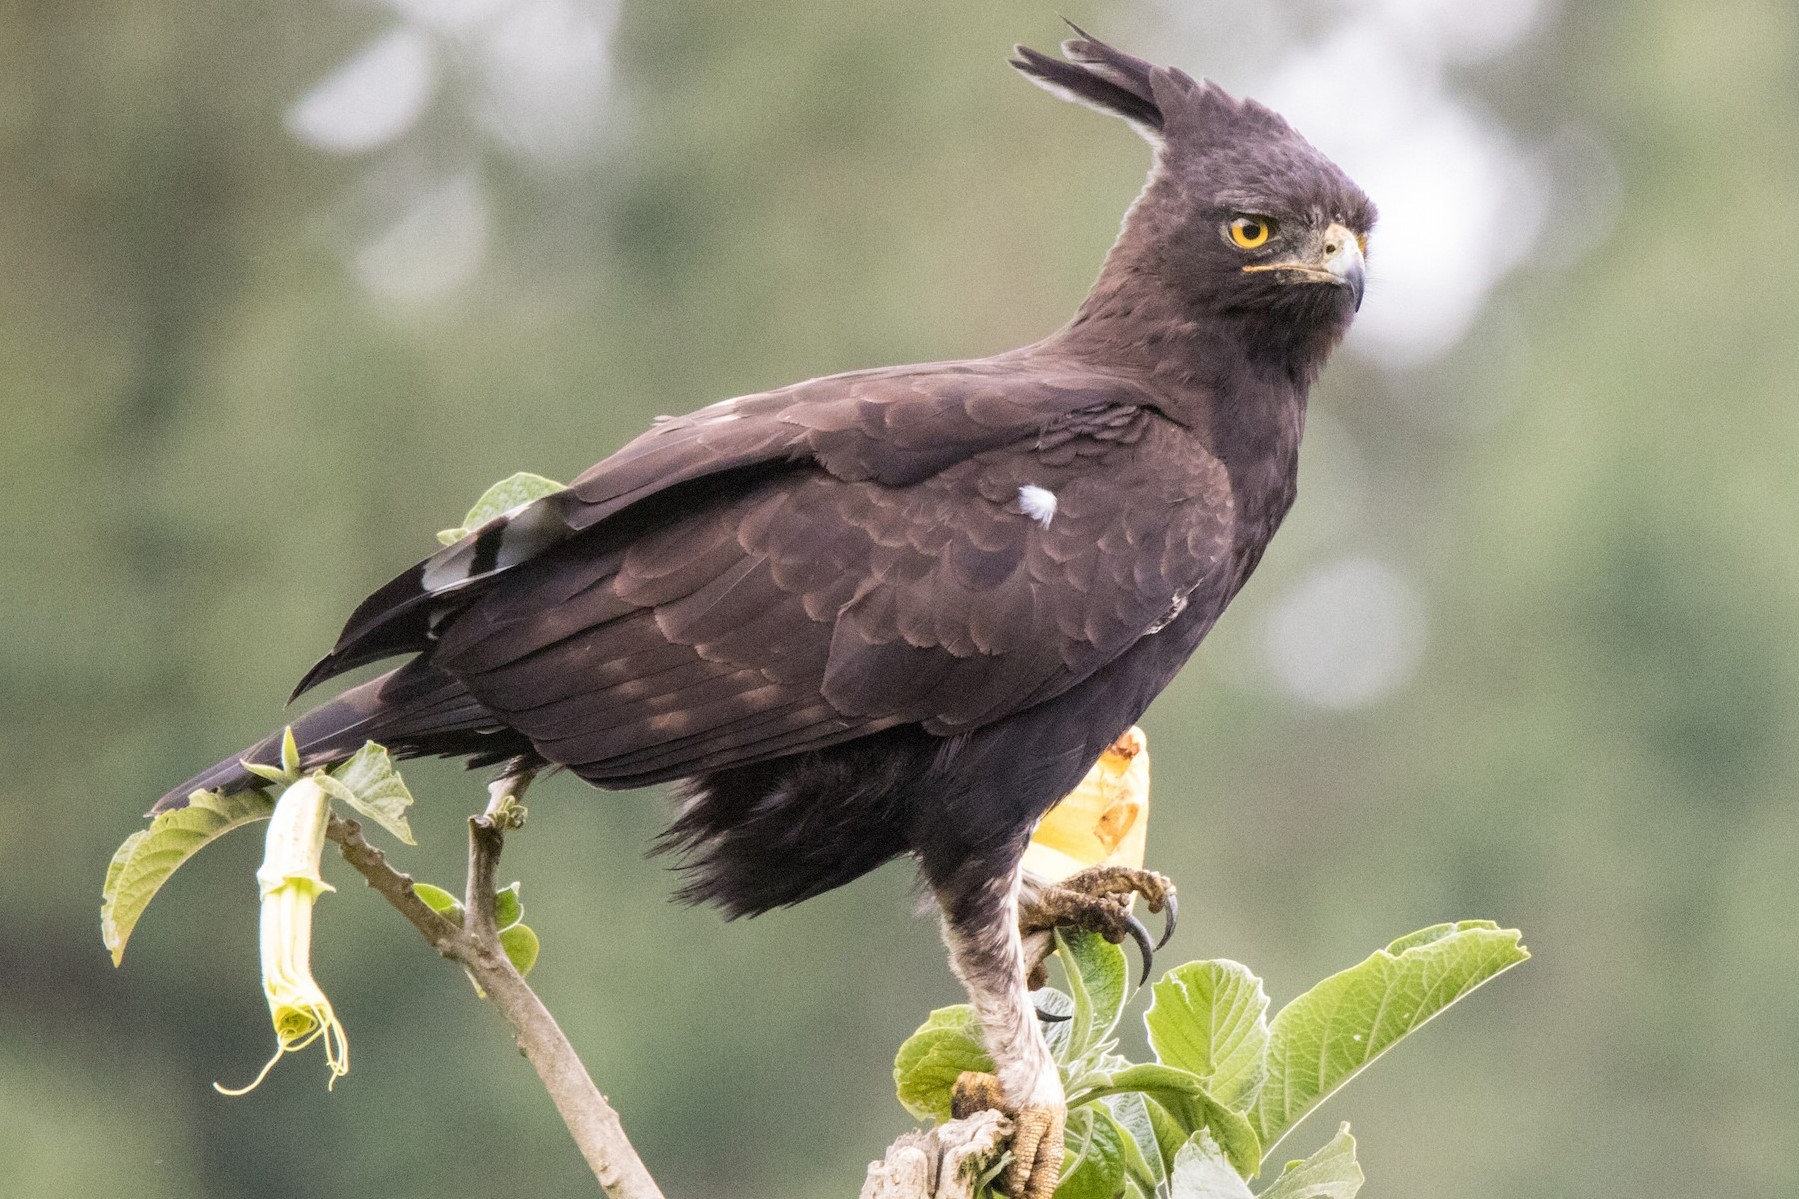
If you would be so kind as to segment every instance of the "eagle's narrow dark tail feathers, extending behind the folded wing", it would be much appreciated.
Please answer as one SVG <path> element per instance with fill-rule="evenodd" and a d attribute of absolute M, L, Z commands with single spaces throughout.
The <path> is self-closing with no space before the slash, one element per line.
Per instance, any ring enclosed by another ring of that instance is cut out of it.
<path fill-rule="evenodd" d="M 495 720 L 461 682 L 417 659 L 313 708 L 291 727 L 308 771 L 344 762 L 363 742 L 380 742 L 398 758 L 468 754 L 471 765 L 533 753 L 520 733 Z M 279 765 L 281 740 L 282 729 L 275 729 L 201 771 L 158 799 L 149 814 L 183 808 L 196 790 L 230 794 L 259 787 L 263 780 L 243 763 Z"/>

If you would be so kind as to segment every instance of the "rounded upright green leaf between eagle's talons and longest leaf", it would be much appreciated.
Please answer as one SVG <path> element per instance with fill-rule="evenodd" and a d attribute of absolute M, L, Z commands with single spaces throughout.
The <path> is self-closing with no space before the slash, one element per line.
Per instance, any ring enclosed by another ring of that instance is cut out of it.
<path fill-rule="evenodd" d="M 1268 996 L 1236 961 L 1189 961 L 1153 988 L 1142 1023 L 1164 1066 L 1198 1075 L 1218 1102 L 1249 1111 L 1263 1078 Z"/>

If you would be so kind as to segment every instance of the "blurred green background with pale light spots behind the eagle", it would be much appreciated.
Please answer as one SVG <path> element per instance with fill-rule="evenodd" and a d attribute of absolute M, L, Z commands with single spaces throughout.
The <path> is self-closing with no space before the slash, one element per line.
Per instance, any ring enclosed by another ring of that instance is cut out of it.
<path fill-rule="evenodd" d="M 259 837 L 122 970 L 103 868 L 493 479 L 1060 324 L 1148 155 L 1006 68 L 1058 13 L 1281 104 L 1387 214 L 1299 506 L 1146 722 L 1164 961 L 1281 1003 L 1520 925 L 1295 1152 L 1353 1120 L 1396 1199 L 1799 1192 L 1792 4 L 86 0 L 0 5 L 0 1194 L 590 1194 L 340 864 L 354 1071 L 241 1100 Z M 479 781 L 408 778 L 453 882 Z M 534 981 L 671 1199 L 851 1195 L 959 996 L 910 871 L 727 925 L 667 902 L 664 816 L 533 794 Z"/>

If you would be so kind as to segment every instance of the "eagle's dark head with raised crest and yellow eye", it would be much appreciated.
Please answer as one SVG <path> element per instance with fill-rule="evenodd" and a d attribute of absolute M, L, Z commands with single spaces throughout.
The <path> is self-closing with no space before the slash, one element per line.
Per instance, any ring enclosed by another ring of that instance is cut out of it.
<path fill-rule="evenodd" d="M 1069 61 L 1018 47 L 1013 67 L 1155 148 L 1108 274 L 1322 360 L 1362 306 L 1374 203 L 1272 108 L 1076 32 Z"/>

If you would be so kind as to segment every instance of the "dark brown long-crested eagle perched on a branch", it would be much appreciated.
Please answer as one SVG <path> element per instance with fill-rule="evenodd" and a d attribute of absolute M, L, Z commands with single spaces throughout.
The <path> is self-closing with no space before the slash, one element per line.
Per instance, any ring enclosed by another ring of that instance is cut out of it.
<path fill-rule="evenodd" d="M 684 895 L 730 915 L 910 853 L 1016 1114 L 1007 1190 L 1047 1199 L 1065 1096 L 1020 909 L 1054 897 L 1020 857 L 1292 506 L 1306 392 L 1360 306 L 1374 207 L 1213 83 L 1085 34 L 1067 61 L 1016 54 L 1155 151 L 1069 324 L 657 423 L 365 600 L 299 691 L 410 661 L 293 731 L 308 767 L 376 740 L 511 780 L 678 780 Z M 243 762 L 277 756 L 272 736 L 157 810 L 252 787 Z"/>

